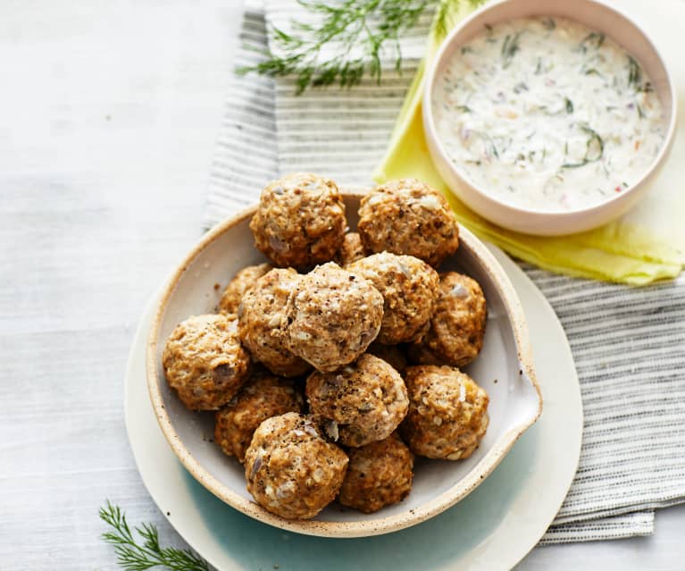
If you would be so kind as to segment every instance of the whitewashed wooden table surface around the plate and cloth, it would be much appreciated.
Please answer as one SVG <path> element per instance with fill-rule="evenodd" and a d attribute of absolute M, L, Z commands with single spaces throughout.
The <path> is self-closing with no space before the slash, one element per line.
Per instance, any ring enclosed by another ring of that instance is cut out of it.
<path fill-rule="evenodd" d="M 198 238 L 240 3 L 0 6 L 0 568 L 115 569 L 109 498 L 182 544 L 140 481 L 122 378 L 138 317 Z M 521 569 L 685 568 L 653 537 L 534 550 Z"/>

